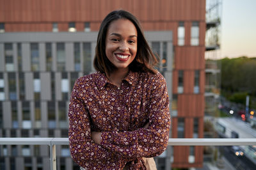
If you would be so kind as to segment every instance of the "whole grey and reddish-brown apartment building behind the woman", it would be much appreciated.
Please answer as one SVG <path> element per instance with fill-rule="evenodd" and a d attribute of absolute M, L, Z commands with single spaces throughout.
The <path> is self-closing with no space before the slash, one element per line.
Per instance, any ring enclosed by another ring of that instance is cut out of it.
<path fill-rule="evenodd" d="M 170 137 L 204 136 L 205 0 L 0 0 L 0 137 L 67 137 L 67 107 L 77 77 L 94 72 L 102 19 L 127 10 L 159 56 L 170 95 Z M 77 169 L 68 146 L 58 169 Z M 1 146 L 5 169 L 49 169 L 47 146 Z M 166 159 L 167 158 L 167 159 Z M 175 146 L 159 169 L 200 167 L 202 146 Z"/>

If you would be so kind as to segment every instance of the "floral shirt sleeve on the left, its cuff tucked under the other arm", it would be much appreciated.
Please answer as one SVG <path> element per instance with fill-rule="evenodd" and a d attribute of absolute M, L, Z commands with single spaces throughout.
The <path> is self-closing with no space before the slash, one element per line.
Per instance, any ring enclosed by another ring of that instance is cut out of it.
<path fill-rule="evenodd" d="M 114 154 L 92 141 L 90 118 L 81 96 L 83 95 L 77 79 L 68 108 L 68 140 L 71 157 L 79 166 L 84 167 L 88 162 L 91 165 L 104 163 L 113 158 Z"/>

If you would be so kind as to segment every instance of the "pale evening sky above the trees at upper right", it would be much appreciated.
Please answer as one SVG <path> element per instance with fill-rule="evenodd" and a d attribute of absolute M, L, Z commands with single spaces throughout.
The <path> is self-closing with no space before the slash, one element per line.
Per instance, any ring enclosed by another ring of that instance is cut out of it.
<path fill-rule="evenodd" d="M 223 0 L 221 20 L 221 58 L 256 57 L 256 0 Z"/>

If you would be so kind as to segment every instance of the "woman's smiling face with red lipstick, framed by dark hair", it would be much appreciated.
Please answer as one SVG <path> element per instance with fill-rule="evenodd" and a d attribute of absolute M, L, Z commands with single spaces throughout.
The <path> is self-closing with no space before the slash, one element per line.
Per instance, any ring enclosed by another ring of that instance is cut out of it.
<path fill-rule="evenodd" d="M 117 71 L 128 70 L 137 52 L 137 29 L 130 20 L 111 22 L 106 35 L 106 56 Z"/>

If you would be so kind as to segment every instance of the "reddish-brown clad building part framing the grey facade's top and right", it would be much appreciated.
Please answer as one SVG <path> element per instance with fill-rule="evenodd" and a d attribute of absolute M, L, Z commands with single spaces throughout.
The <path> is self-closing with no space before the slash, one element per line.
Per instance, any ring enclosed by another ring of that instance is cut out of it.
<path fill-rule="evenodd" d="M 106 14 L 118 9 L 138 17 L 144 31 L 172 31 L 170 135 L 204 136 L 205 0 L 0 0 L 0 4 L 0 34 L 98 31 Z M 175 146 L 172 155 L 172 167 L 203 163 L 202 146 Z"/>

